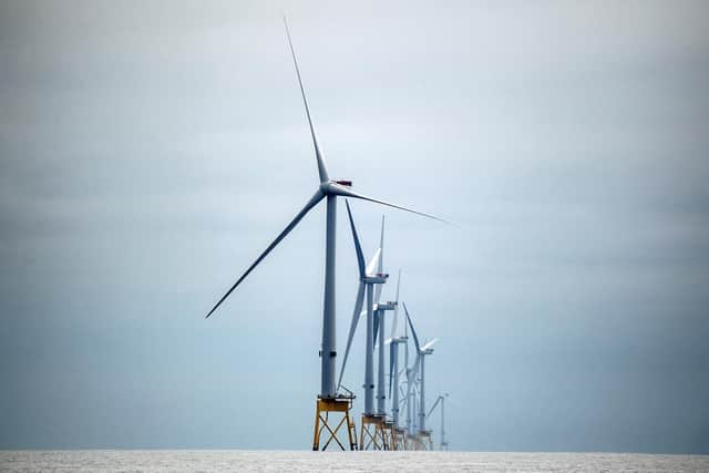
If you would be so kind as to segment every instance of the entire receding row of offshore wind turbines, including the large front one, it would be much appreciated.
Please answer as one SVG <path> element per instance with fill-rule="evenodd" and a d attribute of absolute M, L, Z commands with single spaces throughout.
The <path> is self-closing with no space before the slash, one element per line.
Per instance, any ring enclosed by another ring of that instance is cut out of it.
<path fill-rule="evenodd" d="M 314 429 L 312 450 L 326 450 L 329 445 L 339 445 L 346 450 L 346 443 L 340 439 L 342 431 L 346 432 L 350 450 L 401 450 L 401 449 L 432 449 L 431 431 L 425 429 L 427 419 L 433 411 L 441 407 L 441 448 L 448 448 L 444 438 L 444 403 L 448 394 L 438 397 L 435 403 L 427 412 L 425 410 L 425 359 L 433 353 L 433 345 L 436 339 L 421 346 L 417 336 L 413 322 L 405 304 L 403 313 L 405 315 L 404 333 L 400 335 L 398 329 L 399 311 L 399 284 L 397 286 L 397 298 L 394 301 L 383 302 L 380 300 L 382 285 L 387 282 L 388 275 L 383 273 L 383 217 L 380 248 L 366 265 L 359 236 L 354 226 L 349 202 L 346 202 L 350 229 L 354 240 L 357 261 L 359 268 L 360 284 L 357 291 L 356 307 L 352 313 L 352 321 L 347 341 L 345 357 L 340 366 L 339 378 L 336 379 L 337 369 L 337 346 L 336 346 L 336 222 L 337 222 L 337 197 L 349 197 L 352 199 L 369 200 L 401 210 L 410 212 L 439 222 L 445 222 L 436 216 L 425 214 L 412 208 L 399 206 L 378 198 L 369 197 L 352 189 L 351 181 L 331 179 L 325 163 L 323 154 L 318 143 L 310 109 L 306 99 L 298 61 L 288 31 L 288 24 L 284 18 L 288 44 L 300 86 L 300 94 L 306 110 L 306 116 L 312 137 L 316 164 L 320 183 L 310 199 L 302 209 L 292 218 L 284 230 L 266 247 L 256 260 L 242 274 L 236 282 L 224 294 L 216 305 L 207 313 L 212 316 L 217 308 L 234 292 L 242 281 L 268 256 L 268 254 L 298 225 L 298 223 L 321 200 L 327 203 L 326 218 L 326 263 L 325 263 L 325 294 L 322 304 L 322 342 L 320 350 L 321 376 L 320 392 L 316 402 L 316 420 Z M 367 301 L 364 310 L 362 305 Z M 386 313 L 391 312 L 391 333 L 384 339 Z M 357 441 L 357 428 L 351 415 L 354 394 L 342 385 L 342 377 L 347 366 L 350 348 L 353 341 L 360 318 L 366 317 L 366 369 L 364 369 L 364 409 L 361 417 L 361 429 L 359 442 Z M 413 363 L 409 364 L 409 337 L 411 335 L 415 348 Z M 376 343 L 374 340 L 378 339 Z M 378 377 L 374 383 L 374 346 L 377 345 Z M 386 387 L 386 349 L 389 346 L 389 393 L 391 398 L 390 411 L 387 410 L 387 387 Z M 401 347 L 403 346 L 403 347 Z M 400 367 L 399 351 L 404 349 L 403 367 Z M 401 379 L 401 374 L 404 378 Z M 377 389 L 377 405 L 374 407 L 374 388 Z M 401 423 L 400 412 L 404 408 L 407 412 L 405 423 Z M 418 411 L 418 412 L 417 412 Z M 339 419 L 339 421 L 338 421 Z M 325 435 L 323 435 L 325 434 Z"/>

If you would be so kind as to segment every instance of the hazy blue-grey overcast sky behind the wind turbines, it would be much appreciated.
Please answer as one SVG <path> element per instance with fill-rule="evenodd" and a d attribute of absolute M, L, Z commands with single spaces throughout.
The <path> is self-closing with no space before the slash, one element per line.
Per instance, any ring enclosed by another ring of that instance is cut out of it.
<path fill-rule="evenodd" d="M 330 175 L 459 224 L 352 203 L 451 448 L 709 453 L 707 2 L 432 6 L 0 2 L 0 449 L 310 446 L 323 205 L 204 319 L 317 186 L 287 13 Z"/>

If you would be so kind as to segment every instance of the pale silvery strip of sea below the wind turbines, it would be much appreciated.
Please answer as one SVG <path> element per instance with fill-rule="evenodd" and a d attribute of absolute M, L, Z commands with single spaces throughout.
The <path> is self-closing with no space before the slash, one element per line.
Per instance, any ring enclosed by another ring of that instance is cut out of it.
<path fill-rule="evenodd" d="M 709 472 L 709 455 L 635 453 L 0 451 L 7 472 Z"/>

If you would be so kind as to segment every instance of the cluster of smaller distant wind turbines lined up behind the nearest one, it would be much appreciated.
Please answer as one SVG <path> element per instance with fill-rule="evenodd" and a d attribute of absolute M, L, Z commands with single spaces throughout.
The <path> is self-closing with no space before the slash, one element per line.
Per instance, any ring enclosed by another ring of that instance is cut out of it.
<path fill-rule="evenodd" d="M 359 268 L 359 288 L 350 322 L 349 336 L 345 358 L 338 378 L 338 390 L 347 388 L 342 385 L 342 377 L 347 367 L 352 340 L 361 318 L 366 317 L 366 345 L 364 345 L 364 410 L 359 439 L 359 450 L 433 450 L 431 431 L 427 430 L 425 421 L 435 409 L 441 407 L 441 443 L 440 448 L 448 450 L 445 441 L 445 399 L 446 394 L 439 394 L 433 405 L 427 411 L 425 404 L 425 359 L 433 353 L 433 346 L 439 340 L 434 338 L 421 346 L 405 302 L 400 301 L 401 270 L 397 279 L 397 292 L 393 301 L 382 301 L 382 286 L 388 281 L 389 275 L 383 270 L 384 250 L 384 217 L 381 222 L 381 237 L 379 248 L 366 265 L 359 234 L 354 225 L 349 202 L 346 200 L 347 214 L 357 254 Z M 367 294 L 367 308 L 362 310 L 362 304 Z M 403 308 L 403 333 L 398 331 L 398 322 L 401 318 L 399 308 Z M 387 312 L 391 312 L 391 332 L 384 339 Z M 409 335 L 411 330 L 415 358 L 409 363 Z M 387 374 L 384 372 L 384 347 L 389 346 L 389 390 L 387 392 Z M 404 361 L 400 363 L 400 346 L 403 346 Z M 376 353 L 377 352 L 377 353 Z M 378 377 L 374 384 L 374 354 L 378 359 Z M 403 379 L 401 376 L 404 374 Z M 377 388 L 377 405 L 374 407 L 374 387 Z M 387 399 L 390 400 L 388 405 Z M 389 410 L 388 410 L 389 408 Z M 401 422 L 401 411 L 405 409 L 405 422 Z"/>

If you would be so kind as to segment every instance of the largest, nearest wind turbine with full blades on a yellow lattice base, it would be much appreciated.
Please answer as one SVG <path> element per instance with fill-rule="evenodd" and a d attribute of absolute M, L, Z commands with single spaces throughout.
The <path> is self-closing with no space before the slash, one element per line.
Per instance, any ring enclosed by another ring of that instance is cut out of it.
<path fill-rule="evenodd" d="M 234 282 L 234 285 L 226 291 L 224 296 L 215 304 L 215 306 L 207 313 L 207 318 L 214 313 L 215 310 L 226 300 L 227 297 L 239 286 L 239 284 L 258 266 L 258 264 L 284 239 L 286 236 L 298 225 L 298 223 L 305 217 L 310 209 L 312 209 L 321 200 L 327 202 L 327 218 L 326 218 L 326 260 L 325 260 L 325 291 L 322 301 L 322 342 L 320 350 L 320 392 L 318 394 L 316 429 L 314 435 L 314 450 L 319 450 L 319 419 L 321 411 L 329 412 L 338 411 L 341 409 L 335 405 L 335 401 L 338 398 L 342 398 L 338 393 L 338 385 L 336 382 L 336 367 L 337 367 L 337 345 L 336 345 L 336 316 L 335 316 L 335 254 L 336 254 L 336 220 L 337 220 L 337 197 L 351 197 L 363 200 L 369 200 L 390 207 L 399 208 L 402 210 L 411 212 L 413 214 L 422 215 L 435 220 L 445 222 L 439 217 L 430 214 L 418 212 L 411 208 L 394 205 L 378 198 L 369 197 L 367 195 L 352 191 L 352 182 L 343 179 L 331 179 L 328 173 L 325 157 L 312 125 L 312 117 L 310 115 L 310 109 L 306 99 L 305 88 L 302 85 L 302 79 L 300 76 L 300 69 L 298 68 L 298 61 L 296 59 L 296 52 L 292 47 L 292 40 L 288 30 L 288 23 L 284 17 L 284 24 L 286 27 L 286 35 L 288 37 L 288 45 L 290 47 L 290 54 L 292 55 L 294 66 L 296 69 L 296 75 L 298 78 L 298 85 L 300 86 L 300 95 L 302 96 L 302 103 L 306 110 L 306 117 L 308 119 L 308 126 L 310 127 L 310 135 L 312 137 L 312 146 L 315 150 L 315 158 L 318 168 L 319 184 L 318 187 L 306 203 L 306 205 L 296 214 L 290 223 L 284 228 L 284 230 L 274 239 L 266 249 L 256 258 L 256 260 L 244 271 L 244 274 Z M 325 401 L 325 402 L 320 402 Z M 349 412 L 349 410 L 347 411 Z M 349 421 L 348 421 L 349 422 Z M 327 421 L 323 419 L 323 423 L 327 425 Z M 337 429 L 336 429 L 337 431 Z M 332 431 L 330 431 L 332 432 Z M 340 445 L 341 446 L 341 445 Z"/>

